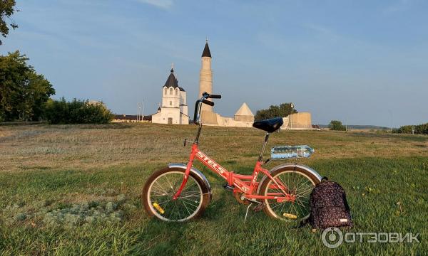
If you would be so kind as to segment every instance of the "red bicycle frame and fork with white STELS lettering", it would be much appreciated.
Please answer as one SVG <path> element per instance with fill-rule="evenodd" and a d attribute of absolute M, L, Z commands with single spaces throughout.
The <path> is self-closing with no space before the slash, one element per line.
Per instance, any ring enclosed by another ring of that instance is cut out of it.
<path fill-rule="evenodd" d="M 263 146 L 264 149 L 265 145 Z M 248 199 L 276 199 L 278 202 L 283 201 L 294 201 L 295 195 L 290 195 L 287 193 L 288 188 L 279 180 L 275 180 L 270 175 L 269 171 L 264 169 L 262 167 L 263 161 L 259 158 L 259 160 L 256 162 L 254 171 L 252 175 L 241 175 L 241 174 L 235 174 L 233 171 L 228 171 L 220 164 L 216 163 L 213 159 L 210 159 L 206 154 L 204 154 L 202 151 L 198 149 L 198 144 L 193 143 L 192 151 L 190 153 L 189 161 L 185 170 L 185 175 L 183 178 L 183 182 L 181 183 L 180 188 L 178 188 L 178 191 L 175 193 L 175 196 L 173 196 L 173 200 L 177 199 L 178 196 L 180 196 L 181 191 L 183 190 L 185 183 L 187 183 L 188 176 L 190 173 L 190 169 L 193 166 L 193 161 L 195 159 L 198 159 L 203 165 L 207 166 L 209 169 L 214 171 L 215 173 L 222 176 L 226 181 L 228 181 L 229 186 L 235 186 L 234 193 L 237 193 L 238 191 L 242 191 L 245 193 L 245 198 Z M 258 188 L 258 174 L 262 172 L 265 174 L 268 178 L 270 178 L 274 184 L 272 184 L 272 188 L 279 189 L 282 193 L 268 193 L 267 196 L 260 196 L 255 194 L 254 192 L 257 191 Z"/>

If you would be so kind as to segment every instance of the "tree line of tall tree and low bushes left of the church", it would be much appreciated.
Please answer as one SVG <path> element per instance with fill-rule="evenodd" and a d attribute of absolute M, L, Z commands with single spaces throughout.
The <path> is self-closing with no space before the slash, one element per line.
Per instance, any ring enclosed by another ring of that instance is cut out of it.
<path fill-rule="evenodd" d="M 63 97 L 52 100 L 54 87 L 27 64 L 28 60 L 18 50 L 0 56 L 0 122 L 44 120 L 51 124 L 88 124 L 113 119 L 102 102 L 91 104 L 76 99 L 67 102 Z"/>

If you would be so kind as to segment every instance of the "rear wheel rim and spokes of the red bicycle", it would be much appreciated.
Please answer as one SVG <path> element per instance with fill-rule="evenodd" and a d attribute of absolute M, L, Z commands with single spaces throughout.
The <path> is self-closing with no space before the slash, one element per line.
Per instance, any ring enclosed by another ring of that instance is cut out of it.
<path fill-rule="evenodd" d="M 309 217 L 310 215 L 310 193 L 315 188 L 315 182 L 301 172 L 295 171 L 282 171 L 273 176 L 275 180 L 287 186 L 290 195 L 295 195 L 295 201 L 284 201 L 278 203 L 276 199 L 265 199 L 267 210 L 276 218 L 285 221 L 300 221 Z M 280 189 L 272 188 L 270 185 L 274 184 L 272 180 L 267 183 L 267 193 L 281 193 Z"/>

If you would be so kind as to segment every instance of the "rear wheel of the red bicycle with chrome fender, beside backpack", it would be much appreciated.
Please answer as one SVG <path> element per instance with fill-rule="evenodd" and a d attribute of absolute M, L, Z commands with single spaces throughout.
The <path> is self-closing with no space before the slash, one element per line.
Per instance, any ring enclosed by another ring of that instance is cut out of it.
<path fill-rule="evenodd" d="M 272 218 L 288 222 L 300 222 L 310 215 L 310 193 L 320 180 L 310 172 L 299 167 L 285 167 L 270 174 L 278 183 L 285 185 L 286 192 L 294 196 L 294 201 L 278 202 L 276 199 L 264 199 L 264 211 Z M 260 185 L 259 194 L 285 196 L 270 178 Z"/>

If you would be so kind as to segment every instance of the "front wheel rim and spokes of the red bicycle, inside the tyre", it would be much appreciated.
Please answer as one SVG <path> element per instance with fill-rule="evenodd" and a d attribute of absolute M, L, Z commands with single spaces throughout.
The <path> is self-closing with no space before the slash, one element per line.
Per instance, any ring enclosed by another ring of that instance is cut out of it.
<path fill-rule="evenodd" d="M 183 182 L 184 173 L 168 171 L 156 177 L 148 188 L 148 206 L 157 218 L 165 221 L 185 221 L 193 218 L 203 203 L 203 191 L 195 178 L 189 175 L 180 196 L 173 200 Z"/>

